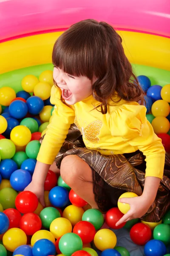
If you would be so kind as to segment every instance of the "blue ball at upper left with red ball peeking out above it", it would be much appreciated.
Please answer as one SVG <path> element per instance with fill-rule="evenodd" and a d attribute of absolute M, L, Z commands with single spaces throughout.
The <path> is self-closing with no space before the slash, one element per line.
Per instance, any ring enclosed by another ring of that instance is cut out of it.
<path fill-rule="evenodd" d="M 26 102 L 19 99 L 15 100 L 9 105 L 9 113 L 14 118 L 23 118 L 28 113 Z"/>

